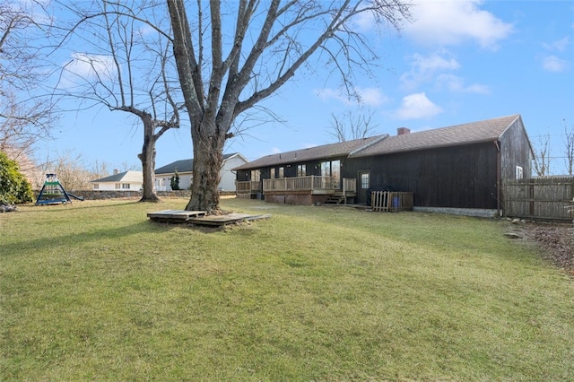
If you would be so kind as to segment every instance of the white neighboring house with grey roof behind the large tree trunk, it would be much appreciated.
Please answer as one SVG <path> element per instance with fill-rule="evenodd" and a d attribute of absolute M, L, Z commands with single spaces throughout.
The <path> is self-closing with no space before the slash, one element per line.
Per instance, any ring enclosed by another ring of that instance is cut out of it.
<path fill-rule="evenodd" d="M 235 172 L 231 169 L 235 169 L 247 163 L 243 155 L 238 152 L 232 154 L 223 154 L 223 165 L 221 171 L 221 181 L 219 183 L 220 191 L 235 191 Z M 194 160 L 181 160 L 174 161 L 168 165 L 165 165 L 159 169 L 155 169 L 155 189 L 158 191 L 171 191 L 171 178 L 175 177 L 176 171 L 178 171 L 179 177 L 179 188 L 188 189 L 191 186 L 193 174 Z"/>

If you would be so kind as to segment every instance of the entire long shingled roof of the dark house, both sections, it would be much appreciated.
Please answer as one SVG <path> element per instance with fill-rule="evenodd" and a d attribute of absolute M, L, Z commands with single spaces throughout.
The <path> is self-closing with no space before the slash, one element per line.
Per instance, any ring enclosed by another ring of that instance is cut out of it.
<path fill-rule="evenodd" d="M 267 155 L 235 169 L 257 169 L 296 161 L 316 161 L 341 156 L 360 158 L 393 152 L 413 152 L 461 144 L 493 142 L 499 139 L 500 135 L 517 118 L 520 118 L 519 114 L 403 135 L 376 135 L 341 143 L 325 144 L 309 149 Z"/>

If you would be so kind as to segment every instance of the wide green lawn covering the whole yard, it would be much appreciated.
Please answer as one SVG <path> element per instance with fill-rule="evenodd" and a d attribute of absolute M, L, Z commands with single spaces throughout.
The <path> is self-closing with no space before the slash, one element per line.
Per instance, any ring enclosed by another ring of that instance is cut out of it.
<path fill-rule="evenodd" d="M 0 380 L 572 380 L 574 282 L 504 221 L 223 199 L 0 214 Z"/>

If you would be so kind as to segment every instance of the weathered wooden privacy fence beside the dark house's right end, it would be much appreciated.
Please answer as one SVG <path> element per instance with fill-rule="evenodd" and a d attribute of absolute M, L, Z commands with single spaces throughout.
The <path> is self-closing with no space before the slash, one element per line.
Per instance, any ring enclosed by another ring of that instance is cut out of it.
<path fill-rule="evenodd" d="M 504 215 L 547 221 L 572 221 L 574 177 L 504 180 Z"/>

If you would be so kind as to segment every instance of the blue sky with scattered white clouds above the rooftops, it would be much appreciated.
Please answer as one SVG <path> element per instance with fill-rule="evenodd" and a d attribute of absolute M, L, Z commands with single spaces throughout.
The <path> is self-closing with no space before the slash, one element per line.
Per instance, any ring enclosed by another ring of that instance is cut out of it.
<path fill-rule="evenodd" d="M 373 135 L 396 135 L 520 114 L 535 147 L 550 138 L 551 174 L 565 173 L 565 128 L 574 129 L 574 1 L 420 1 L 402 30 L 372 30 L 380 60 L 357 74 L 361 105 L 321 71 L 298 72 L 261 106 L 280 121 L 232 138 L 225 152 L 248 161 L 335 143 L 333 115 L 371 115 Z M 126 113 L 95 108 L 67 113 L 39 157 L 80 154 L 87 166 L 140 169 L 141 129 Z M 156 168 L 192 157 L 188 126 L 157 144 Z"/>

